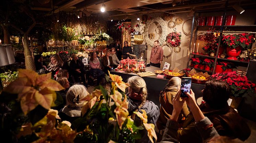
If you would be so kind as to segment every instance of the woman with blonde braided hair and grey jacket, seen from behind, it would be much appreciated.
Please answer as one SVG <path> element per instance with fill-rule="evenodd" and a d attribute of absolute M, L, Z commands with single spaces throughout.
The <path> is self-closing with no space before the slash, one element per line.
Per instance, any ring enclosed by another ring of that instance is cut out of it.
<path fill-rule="evenodd" d="M 128 78 L 127 83 L 130 85 L 128 87 L 127 100 L 129 102 L 129 115 L 134 120 L 134 123 L 138 126 L 141 124 L 141 119 L 135 116 L 134 111 L 142 113 L 142 109 L 146 111 L 148 116 L 148 123 L 156 124 L 156 120 L 159 116 L 159 108 L 152 101 L 146 100 L 148 97 L 147 86 L 143 78 L 139 76 L 132 76 Z M 142 130 L 142 138 L 136 142 L 149 142 L 147 136 L 147 130 Z"/>

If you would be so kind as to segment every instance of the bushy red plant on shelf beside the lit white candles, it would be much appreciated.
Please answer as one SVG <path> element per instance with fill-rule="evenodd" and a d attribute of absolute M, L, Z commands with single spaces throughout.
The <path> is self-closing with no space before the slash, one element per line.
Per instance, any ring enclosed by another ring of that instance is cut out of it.
<path fill-rule="evenodd" d="M 207 42 L 205 46 L 202 47 L 203 51 L 206 54 L 210 53 L 216 53 L 218 48 L 218 39 L 220 36 L 220 33 L 214 33 L 217 32 L 215 29 L 209 29 L 207 32 L 201 32 L 199 36 L 200 41 Z"/>

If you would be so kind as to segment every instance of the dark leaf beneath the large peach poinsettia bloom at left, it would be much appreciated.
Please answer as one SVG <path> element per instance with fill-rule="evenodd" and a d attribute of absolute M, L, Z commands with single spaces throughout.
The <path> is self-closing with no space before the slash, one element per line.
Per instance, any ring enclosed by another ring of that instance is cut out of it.
<path fill-rule="evenodd" d="M 38 105 L 34 110 L 28 113 L 28 117 L 30 118 L 31 124 L 35 125 L 39 120 L 43 119 L 47 113 L 48 110 Z"/>

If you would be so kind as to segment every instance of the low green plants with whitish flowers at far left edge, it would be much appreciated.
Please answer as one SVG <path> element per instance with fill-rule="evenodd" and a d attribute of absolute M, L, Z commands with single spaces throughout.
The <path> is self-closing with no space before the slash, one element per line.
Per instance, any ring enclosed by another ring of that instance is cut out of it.
<path fill-rule="evenodd" d="M 7 87 L 11 82 L 13 82 L 16 78 L 18 78 L 18 71 L 10 71 L 0 73 L 0 78 L 2 81 L 3 88 Z"/>

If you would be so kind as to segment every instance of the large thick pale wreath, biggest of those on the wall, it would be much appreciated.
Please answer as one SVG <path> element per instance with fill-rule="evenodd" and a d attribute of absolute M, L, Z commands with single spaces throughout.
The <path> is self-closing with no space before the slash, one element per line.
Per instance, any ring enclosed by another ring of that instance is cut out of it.
<path fill-rule="evenodd" d="M 165 40 L 166 40 L 166 36 L 167 36 L 167 25 L 166 25 L 165 21 L 164 21 L 161 17 L 153 17 L 152 19 L 149 19 L 149 20 L 147 21 L 147 23 L 146 23 L 146 26 L 144 27 L 144 31 L 145 31 L 145 32 L 144 32 L 144 39 L 145 39 L 145 41 L 147 42 L 147 44 L 148 44 L 149 46 L 151 46 L 151 47 L 154 46 L 154 42 L 149 39 L 149 33 L 148 33 L 148 31 L 149 31 L 149 27 L 150 27 L 151 24 L 154 23 L 154 22 L 158 23 L 158 24 L 161 26 L 161 28 L 162 28 L 162 30 L 161 30 L 161 31 L 162 31 L 162 35 L 161 35 L 161 37 L 158 39 L 160 46 L 163 45 L 163 43 L 164 43 Z"/>

